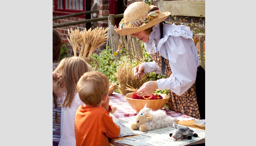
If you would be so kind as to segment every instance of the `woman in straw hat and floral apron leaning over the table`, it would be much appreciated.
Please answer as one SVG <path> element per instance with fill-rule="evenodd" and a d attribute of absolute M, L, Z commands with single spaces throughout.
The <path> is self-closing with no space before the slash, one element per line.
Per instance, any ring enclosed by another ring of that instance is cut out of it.
<path fill-rule="evenodd" d="M 144 83 L 138 96 L 150 96 L 156 90 L 169 89 L 168 109 L 196 119 L 205 119 L 205 71 L 189 27 L 163 24 L 170 12 L 159 12 L 144 2 L 130 4 L 116 32 L 133 34 L 144 42 L 153 58 L 134 68 L 134 76 L 155 71 L 168 78 Z"/>

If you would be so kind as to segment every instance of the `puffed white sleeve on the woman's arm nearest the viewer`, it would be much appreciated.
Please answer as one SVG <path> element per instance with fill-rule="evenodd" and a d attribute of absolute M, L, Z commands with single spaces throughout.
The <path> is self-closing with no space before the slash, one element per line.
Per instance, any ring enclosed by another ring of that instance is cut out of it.
<path fill-rule="evenodd" d="M 172 74 L 169 78 L 157 80 L 158 89 L 170 89 L 181 96 L 196 81 L 197 66 L 199 65 L 195 53 L 192 51 L 195 49 L 195 44 L 192 39 L 169 36 L 162 47 L 167 53 Z"/>

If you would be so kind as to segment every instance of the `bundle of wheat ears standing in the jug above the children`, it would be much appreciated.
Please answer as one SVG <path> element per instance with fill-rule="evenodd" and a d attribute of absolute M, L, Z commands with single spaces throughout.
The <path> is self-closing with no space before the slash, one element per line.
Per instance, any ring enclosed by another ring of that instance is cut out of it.
<path fill-rule="evenodd" d="M 102 46 L 103 44 L 106 43 L 108 40 L 108 27 L 106 29 L 100 27 L 96 27 L 95 29 L 92 30 L 92 28 L 88 29 L 88 31 L 83 30 L 79 32 L 79 29 L 76 30 L 75 32 L 70 28 L 71 33 L 69 33 L 68 29 L 68 34 L 70 37 L 70 40 L 68 39 L 69 43 L 72 45 L 73 51 L 74 51 L 74 56 L 76 56 L 76 47 L 78 47 L 78 51 L 80 52 L 79 57 L 86 59 L 86 58 L 91 58 L 92 54 L 94 51 Z M 73 32 L 72 32 L 73 31 Z M 74 37 L 75 36 L 75 37 Z M 75 39 L 74 39 L 75 38 Z M 81 50 L 79 47 L 79 44 L 81 46 Z"/>

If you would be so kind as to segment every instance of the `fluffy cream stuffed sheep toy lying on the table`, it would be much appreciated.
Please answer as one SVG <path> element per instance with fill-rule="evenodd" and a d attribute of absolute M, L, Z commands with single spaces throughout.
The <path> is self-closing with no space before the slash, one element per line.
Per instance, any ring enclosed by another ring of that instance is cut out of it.
<path fill-rule="evenodd" d="M 171 127 L 174 123 L 178 124 L 178 120 L 167 116 L 165 111 L 153 111 L 145 105 L 145 107 L 137 114 L 135 122 L 131 123 L 130 126 L 132 130 L 137 130 L 139 128 L 140 131 L 144 132 L 163 127 Z"/>

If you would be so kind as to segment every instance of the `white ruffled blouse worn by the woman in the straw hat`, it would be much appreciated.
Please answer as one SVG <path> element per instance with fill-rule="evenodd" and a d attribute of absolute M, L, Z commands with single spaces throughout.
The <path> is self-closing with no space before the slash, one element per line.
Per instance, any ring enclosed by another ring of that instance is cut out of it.
<path fill-rule="evenodd" d="M 149 54 L 153 48 L 154 53 L 159 51 L 161 56 L 169 60 L 172 71 L 169 78 L 157 80 L 159 90 L 170 89 L 181 96 L 195 83 L 200 62 L 192 35 L 190 28 L 184 25 L 163 24 L 163 38 L 160 40 L 159 24 L 153 27 L 149 41 L 144 43 L 145 49 Z M 155 71 L 161 74 L 155 61 L 142 64 L 144 73 Z"/>

